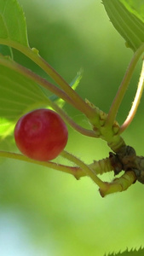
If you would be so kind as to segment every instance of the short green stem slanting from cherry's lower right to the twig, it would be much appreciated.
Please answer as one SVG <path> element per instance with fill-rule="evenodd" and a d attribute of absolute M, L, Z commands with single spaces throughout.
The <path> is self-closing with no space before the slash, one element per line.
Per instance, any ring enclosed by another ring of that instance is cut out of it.
<path fill-rule="evenodd" d="M 91 177 L 91 179 L 101 188 L 101 189 L 107 189 L 107 184 L 102 182 L 99 177 L 97 177 L 96 173 L 87 165 L 84 164 L 82 160 L 79 160 L 76 156 L 66 152 L 63 150 L 60 155 L 64 157 L 66 160 L 70 160 L 73 163 L 75 163 L 77 166 L 79 166 L 87 176 Z"/>

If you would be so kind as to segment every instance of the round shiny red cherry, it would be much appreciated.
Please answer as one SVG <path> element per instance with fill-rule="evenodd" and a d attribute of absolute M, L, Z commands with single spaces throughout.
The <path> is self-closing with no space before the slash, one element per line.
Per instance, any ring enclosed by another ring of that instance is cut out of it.
<path fill-rule="evenodd" d="M 14 139 L 22 154 L 33 160 L 48 161 L 66 147 L 68 131 L 58 113 L 42 108 L 18 120 Z"/>

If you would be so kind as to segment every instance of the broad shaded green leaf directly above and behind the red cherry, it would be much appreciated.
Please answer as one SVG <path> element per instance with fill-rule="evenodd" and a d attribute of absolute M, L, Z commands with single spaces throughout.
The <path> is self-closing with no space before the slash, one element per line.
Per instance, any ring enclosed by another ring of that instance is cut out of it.
<path fill-rule="evenodd" d="M 0 64 L 1 137 L 13 131 L 15 121 L 22 114 L 46 104 L 46 96 L 35 82 Z"/>

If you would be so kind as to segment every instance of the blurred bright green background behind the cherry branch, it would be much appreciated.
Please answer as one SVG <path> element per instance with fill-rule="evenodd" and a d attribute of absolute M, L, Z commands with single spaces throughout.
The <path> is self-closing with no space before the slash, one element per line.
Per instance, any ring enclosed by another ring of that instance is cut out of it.
<path fill-rule="evenodd" d="M 100 0 L 19 0 L 26 14 L 31 47 L 71 82 L 79 69 L 84 76 L 78 94 L 108 112 L 123 79 L 132 51 L 112 27 Z M 48 78 L 25 56 L 14 59 Z M 133 101 L 141 70 L 136 67 L 118 113 L 122 123 Z M 49 78 L 48 78 L 49 79 Z M 50 80 L 50 79 L 49 79 Z M 124 131 L 127 144 L 142 155 L 144 100 Z M 66 112 L 86 127 L 76 109 Z M 69 127 L 66 150 L 86 163 L 107 157 L 103 141 L 84 137 Z M 60 158 L 57 162 L 62 163 Z M 113 173 L 104 180 L 111 181 Z M 89 177 L 79 181 L 67 174 L 15 160 L 0 166 L 0 251 L 3 256 L 104 255 L 144 246 L 143 186 L 102 199 Z"/>

